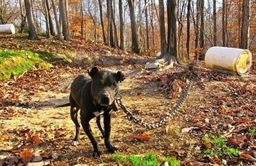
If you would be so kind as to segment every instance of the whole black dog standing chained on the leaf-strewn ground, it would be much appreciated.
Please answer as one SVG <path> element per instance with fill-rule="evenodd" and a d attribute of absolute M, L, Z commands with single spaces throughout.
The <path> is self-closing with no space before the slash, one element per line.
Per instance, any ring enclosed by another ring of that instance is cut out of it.
<path fill-rule="evenodd" d="M 80 111 L 81 124 L 84 132 L 93 144 L 93 157 L 100 157 L 102 154 L 99 149 L 98 141 L 91 133 L 89 121 L 96 117 L 97 125 L 104 137 L 104 145 L 110 153 L 116 153 L 118 149 L 111 145 L 109 140 L 111 132 L 111 111 L 117 111 L 115 97 L 119 91 L 119 84 L 125 80 L 125 75 L 118 71 L 99 71 L 93 67 L 89 72 L 91 79 L 85 75 L 79 75 L 71 84 L 70 104 L 64 104 L 61 107 L 71 105 L 71 118 L 75 123 L 75 138 L 72 145 L 77 145 L 80 135 L 80 124 L 77 120 L 77 112 Z M 100 115 L 104 116 L 104 129 L 100 125 Z"/>

